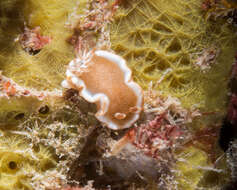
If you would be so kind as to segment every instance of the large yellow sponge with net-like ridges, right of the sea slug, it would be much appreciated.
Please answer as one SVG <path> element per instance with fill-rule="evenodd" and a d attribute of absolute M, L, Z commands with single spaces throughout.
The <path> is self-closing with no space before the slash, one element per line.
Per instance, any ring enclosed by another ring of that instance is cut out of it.
<path fill-rule="evenodd" d="M 200 0 L 124 1 L 110 29 L 112 48 L 143 88 L 152 81 L 154 89 L 186 107 L 223 110 L 237 43 L 227 24 L 205 20 Z M 194 65 L 212 46 L 220 54 L 203 73 Z"/>

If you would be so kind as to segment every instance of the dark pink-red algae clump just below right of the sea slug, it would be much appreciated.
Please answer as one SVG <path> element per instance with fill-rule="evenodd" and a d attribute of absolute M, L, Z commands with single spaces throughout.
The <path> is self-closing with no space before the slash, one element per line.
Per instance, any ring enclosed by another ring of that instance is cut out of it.
<path fill-rule="evenodd" d="M 133 128 L 128 133 L 131 143 L 152 157 L 158 157 L 159 152 L 173 147 L 182 134 L 181 128 L 170 124 L 165 114 L 157 116 L 148 124 Z"/>

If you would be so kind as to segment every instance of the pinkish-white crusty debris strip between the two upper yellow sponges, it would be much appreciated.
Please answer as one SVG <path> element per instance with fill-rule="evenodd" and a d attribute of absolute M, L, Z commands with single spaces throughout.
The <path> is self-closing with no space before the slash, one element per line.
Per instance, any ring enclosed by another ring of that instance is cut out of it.
<path fill-rule="evenodd" d="M 81 49 L 108 49 L 110 48 L 110 36 L 108 24 L 113 20 L 113 15 L 118 9 L 118 3 L 105 1 L 90 1 L 89 8 L 84 15 L 80 15 L 79 21 L 73 21 L 68 26 L 74 30 L 68 42 L 73 45 L 75 54 Z"/>

